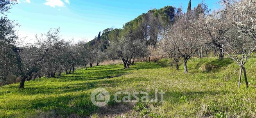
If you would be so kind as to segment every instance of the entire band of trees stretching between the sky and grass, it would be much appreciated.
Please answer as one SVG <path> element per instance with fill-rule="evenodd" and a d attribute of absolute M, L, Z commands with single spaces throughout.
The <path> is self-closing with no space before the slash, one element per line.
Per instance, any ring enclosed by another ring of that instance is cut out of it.
<path fill-rule="evenodd" d="M 25 81 L 37 77 L 61 77 L 62 72 L 72 74 L 75 67 L 97 66 L 104 60 L 122 60 L 124 69 L 136 58 L 172 58 L 179 70 L 192 57 L 208 56 L 209 52 L 224 53 L 240 66 L 248 85 L 245 63 L 256 48 L 256 0 L 220 0 L 222 9 L 212 11 L 202 1 L 197 7 L 183 12 L 181 8 L 166 6 L 152 9 L 125 23 L 122 29 L 107 28 L 89 42 L 72 43 L 59 35 L 60 28 L 36 35 L 36 43 L 20 46 L 14 28 L 17 24 L 4 14 L 15 0 L 0 0 L 0 81 L 5 85 L 10 76 Z"/>

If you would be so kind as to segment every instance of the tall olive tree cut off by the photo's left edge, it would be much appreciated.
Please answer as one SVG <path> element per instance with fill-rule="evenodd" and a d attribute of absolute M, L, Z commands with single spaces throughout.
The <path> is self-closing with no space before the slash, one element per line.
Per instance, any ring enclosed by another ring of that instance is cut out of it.
<path fill-rule="evenodd" d="M 16 23 L 9 20 L 5 13 L 16 1 L 0 0 L 0 85 L 5 85 L 10 76 L 18 73 L 16 66 Z"/>

